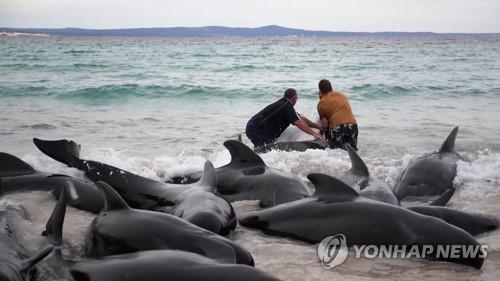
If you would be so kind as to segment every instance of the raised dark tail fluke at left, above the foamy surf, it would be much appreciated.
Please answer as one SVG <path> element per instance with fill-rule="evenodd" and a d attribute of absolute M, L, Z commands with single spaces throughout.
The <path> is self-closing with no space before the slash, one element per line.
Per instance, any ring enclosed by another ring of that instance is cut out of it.
<path fill-rule="evenodd" d="M 70 167 L 80 164 L 80 145 L 72 140 L 41 140 L 33 138 L 33 143 L 47 156 Z"/>

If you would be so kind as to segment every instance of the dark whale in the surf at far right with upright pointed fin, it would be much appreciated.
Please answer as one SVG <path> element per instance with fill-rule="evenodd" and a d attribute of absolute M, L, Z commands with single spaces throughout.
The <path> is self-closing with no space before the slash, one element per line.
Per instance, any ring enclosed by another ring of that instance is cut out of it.
<path fill-rule="evenodd" d="M 394 187 L 399 200 L 408 196 L 439 195 L 453 187 L 457 161 L 461 159 L 455 151 L 457 133 L 458 127 L 453 128 L 439 151 L 408 164 Z"/>

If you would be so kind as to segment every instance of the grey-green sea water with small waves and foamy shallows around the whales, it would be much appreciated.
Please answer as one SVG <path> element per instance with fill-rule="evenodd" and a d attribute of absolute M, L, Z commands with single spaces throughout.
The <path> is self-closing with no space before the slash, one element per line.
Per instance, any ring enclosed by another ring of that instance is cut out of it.
<path fill-rule="evenodd" d="M 32 138 L 70 138 L 84 158 L 156 180 L 229 162 L 222 142 L 247 120 L 299 91 L 297 111 L 316 116 L 316 87 L 330 79 L 359 123 L 360 156 L 394 184 L 411 159 L 437 150 L 460 126 L 457 193 L 451 206 L 500 217 L 500 37 L 437 35 L 334 38 L 0 37 L 0 151 L 37 170 L 83 177 L 44 156 Z M 282 139 L 308 136 L 291 128 Z M 249 141 L 244 138 L 244 142 Z M 350 168 L 339 150 L 262 155 L 299 175 Z M 1 204 L 29 214 L 26 241 L 38 241 L 54 201 L 9 195 Z M 237 213 L 255 202 L 234 203 Z M 72 209 L 65 237 L 81 243 L 92 215 Z M 366 230 L 369 235 L 370 230 Z M 498 280 L 500 232 L 482 270 L 421 260 L 355 259 L 324 269 L 314 245 L 238 227 L 232 238 L 256 266 L 283 280 Z M 33 242 L 34 243 L 34 242 Z M 33 248 L 35 248 L 33 246 Z"/>

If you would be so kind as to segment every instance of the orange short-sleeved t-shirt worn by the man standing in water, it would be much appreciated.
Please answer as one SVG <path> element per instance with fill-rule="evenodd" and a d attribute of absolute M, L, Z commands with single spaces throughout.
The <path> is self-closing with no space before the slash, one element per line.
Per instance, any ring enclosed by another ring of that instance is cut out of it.
<path fill-rule="evenodd" d="M 318 113 L 320 118 L 328 119 L 330 128 L 342 124 L 356 124 L 351 105 L 342 92 L 334 91 L 326 94 L 318 102 Z"/>

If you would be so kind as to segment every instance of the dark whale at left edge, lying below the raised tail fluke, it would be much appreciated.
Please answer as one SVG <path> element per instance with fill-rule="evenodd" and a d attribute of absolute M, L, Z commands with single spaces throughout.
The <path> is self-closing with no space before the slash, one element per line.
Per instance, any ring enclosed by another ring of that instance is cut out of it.
<path fill-rule="evenodd" d="M 53 191 L 56 198 L 67 185 L 72 185 L 78 200 L 70 200 L 71 206 L 98 213 L 102 209 L 99 191 L 93 183 L 77 178 L 37 172 L 28 163 L 8 153 L 0 152 L 0 178 L 3 181 L 0 195 L 26 191 Z"/>

